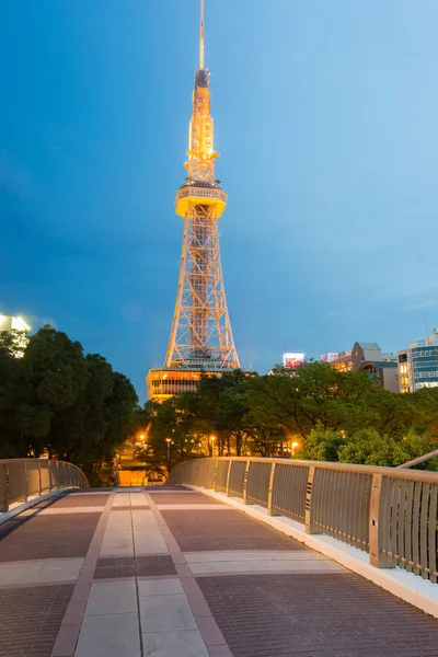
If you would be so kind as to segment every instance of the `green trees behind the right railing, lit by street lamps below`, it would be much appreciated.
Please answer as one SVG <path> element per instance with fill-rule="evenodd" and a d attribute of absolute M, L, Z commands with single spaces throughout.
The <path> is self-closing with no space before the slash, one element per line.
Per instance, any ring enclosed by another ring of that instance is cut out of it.
<path fill-rule="evenodd" d="M 150 473 L 212 452 L 399 465 L 437 449 L 438 389 L 392 393 L 366 372 L 325 362 L 292 373 L 235 371 L 204 377 L 196 393 L 148 402 L 137 430 L 147 435 L 137 457 Z"/>

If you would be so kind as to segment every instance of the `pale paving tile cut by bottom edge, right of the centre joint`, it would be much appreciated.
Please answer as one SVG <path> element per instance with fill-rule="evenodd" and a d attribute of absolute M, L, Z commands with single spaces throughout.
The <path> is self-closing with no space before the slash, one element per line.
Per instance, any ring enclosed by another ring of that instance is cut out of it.
<path fill-rule="evenodd" d="M 209 657 L 197 630 L 148 632 L 142 634 L 145 655 L 153 657 Z"/>

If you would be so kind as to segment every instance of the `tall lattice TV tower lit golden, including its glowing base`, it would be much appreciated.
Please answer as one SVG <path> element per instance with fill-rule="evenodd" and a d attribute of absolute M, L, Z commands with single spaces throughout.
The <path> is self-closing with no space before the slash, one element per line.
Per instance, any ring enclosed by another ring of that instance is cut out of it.
<path fill-rule="evenodd" d="M 171 337 L 163 368 L 149 371 L 149 399 L 194 391 L 200 372 L 220 374 L 239 368 L 226 301 L 218 219 L 227 194 L 215 176 L 210 72 L 204 64 L 204 0 L 200 1 L 199 67 L 195 73 L 187 151 L 187 177 L 175 198 L 184 218 L 183 252 Z"/>

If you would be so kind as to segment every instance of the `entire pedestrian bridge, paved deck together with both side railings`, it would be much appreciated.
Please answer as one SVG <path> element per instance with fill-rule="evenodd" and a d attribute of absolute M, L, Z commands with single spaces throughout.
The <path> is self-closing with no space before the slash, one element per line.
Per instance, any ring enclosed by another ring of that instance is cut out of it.
<path fill-rule="evenodd" d="M 435 473 L 199 459 L 85 486 L 0 461 L 0 657 L 438 656 Z"/>

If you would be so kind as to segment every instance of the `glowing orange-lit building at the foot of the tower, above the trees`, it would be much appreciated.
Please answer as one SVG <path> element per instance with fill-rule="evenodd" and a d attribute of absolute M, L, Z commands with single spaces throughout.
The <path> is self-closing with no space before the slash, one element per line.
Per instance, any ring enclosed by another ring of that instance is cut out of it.
<path fill-rule="evenodd" d="M 196 367 L 157 367 L 149 370 L 146 378 L 148 399 L 164 402 L 182 392 L 196 392 L 201 376 L 220 377 L 223 373 L 235 372 L 235 368 L 199 369 Z"/>

